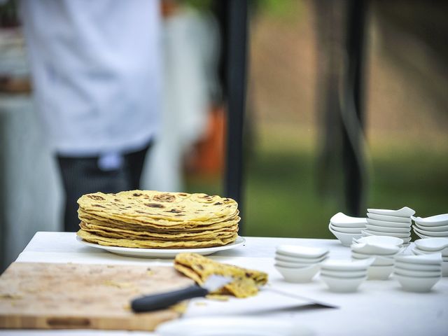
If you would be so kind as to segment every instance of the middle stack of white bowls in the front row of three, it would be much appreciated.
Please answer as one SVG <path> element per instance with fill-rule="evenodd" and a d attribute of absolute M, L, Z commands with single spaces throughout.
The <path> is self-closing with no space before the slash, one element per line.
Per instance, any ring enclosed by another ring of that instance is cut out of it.
<path fill-rule="evenodd" d="M 332 292 L 356 292 L 365 279 L 374 258 L 365 260 L 330 259 L 321 264 L 321 279 Z"/>

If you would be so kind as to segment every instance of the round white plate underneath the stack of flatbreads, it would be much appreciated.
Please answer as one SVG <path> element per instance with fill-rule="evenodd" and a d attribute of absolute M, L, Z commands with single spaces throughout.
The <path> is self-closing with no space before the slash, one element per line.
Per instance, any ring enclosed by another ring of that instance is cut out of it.
<path fill-rule="evenodd" d="M 197 253 L 201 255 L 210 255 L 218 251 L 229 250 L 230 248 L 236 248 L 244 244 L 243 237 L 237 237 L 233 243 L 224 246 L 204 247 L 204 248 L 132 248 L 132 247 L 118 247 L 118 246 L 103 246 L 99 244 L 92 244 L 84 241 L 80 237 L 76 237 L 81 244 L 94 248 L 100 248 L 102 250 L 130 257 L 140 258 L 174 258 L 178 253 Z"/>

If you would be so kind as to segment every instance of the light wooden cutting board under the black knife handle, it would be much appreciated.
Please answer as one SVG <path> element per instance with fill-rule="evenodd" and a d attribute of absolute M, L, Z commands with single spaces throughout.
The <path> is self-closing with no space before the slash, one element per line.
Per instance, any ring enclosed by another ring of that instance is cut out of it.
<path fill-rule="evenodd" d="M 193 283 L 174 267 L 14 262 L 0 276 L 0 328 L 154 330 L 179 311 L 134 314 L 130 300 Z"/>

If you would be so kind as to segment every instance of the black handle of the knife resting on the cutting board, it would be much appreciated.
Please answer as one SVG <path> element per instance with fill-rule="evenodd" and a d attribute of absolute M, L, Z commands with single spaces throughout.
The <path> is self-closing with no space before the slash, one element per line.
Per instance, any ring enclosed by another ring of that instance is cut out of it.
<path fill-rule="evenodd" d="M 208 293 L 209 291 L 207 289 L 195 285 L 171 292 L 139 297 L 132 300 L 131 307 L 136 313 L 153 311 L 167 308 L 182 300 L 191 299 L 193 297 L 202 297 Z"/>

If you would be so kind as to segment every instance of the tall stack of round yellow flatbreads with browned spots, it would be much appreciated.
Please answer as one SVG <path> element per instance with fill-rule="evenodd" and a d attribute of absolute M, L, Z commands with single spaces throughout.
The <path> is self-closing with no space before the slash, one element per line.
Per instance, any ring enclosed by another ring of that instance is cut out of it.
<path fill-rule="evenodd" d="M 207 194 L 131 190 L 78 200 L 85 241 L 134 248 L 200 248 L 238 237 L 238 204 Z"/>

